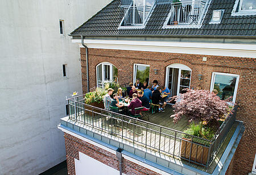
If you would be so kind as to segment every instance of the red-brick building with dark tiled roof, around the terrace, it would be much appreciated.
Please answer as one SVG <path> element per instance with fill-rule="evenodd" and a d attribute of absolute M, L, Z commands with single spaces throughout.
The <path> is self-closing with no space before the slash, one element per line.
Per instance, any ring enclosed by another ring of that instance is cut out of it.
<path fill-rule="evenodd" d="M 161 152 L 161 127 L 159 150 L 154 152 L 147 149 L 147 142 L 146 148 L 143 141 L 136 144 L 135 132 L 130 143 L 130 138 L 125 140 L 123 135 L 120 140 L 118 134 L 103 132 L 104 128 L 98 131 L 96 119 L 90 128 L 85 119 L 81 126 L 77 116 L 75 121 L 70 116 L 63 118 L 59 128 L 65 132 L 69 174 L 79 174 L 83 171 L 82 164 L 94 160 L 98 167 L 105 169 L 97 172 L 86 166 L 96 174 L 117 174 L 120 164 L 125 174 L 255 172 L 255 9 L 255 2 L 249 0 L 180 3 L 114 0 L 73 31 L 72 41 L 81 48 L 84 94 L 101 87 L 106 80 L 128 84 L 140 78 L 150 85 L 158 80 L 159 85 L 169 87 L 171 95 L 178 95 L 184 87 L 212 91 L 215 85 L 223 89 L 233 82 L 233 102 L 240 107 L 234 123 L 237 125 L 220 160 L 203 169 L 177 162 L 175 145 L 173 157 L 164 150 Z M 223 94 L 221 97 L 224 98 Z"/>

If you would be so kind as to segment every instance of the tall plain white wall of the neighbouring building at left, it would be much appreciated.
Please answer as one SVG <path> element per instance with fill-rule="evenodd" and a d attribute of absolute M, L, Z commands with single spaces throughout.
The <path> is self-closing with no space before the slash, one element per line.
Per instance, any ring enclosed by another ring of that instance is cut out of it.
<path fill-rule="evenodd" d="M 56 125 L 65 96 L 82 93 L 80 49 L 68 34 L 109 2 L 0 1 L 0 174 L 39 174 L 65 160 Z"/>

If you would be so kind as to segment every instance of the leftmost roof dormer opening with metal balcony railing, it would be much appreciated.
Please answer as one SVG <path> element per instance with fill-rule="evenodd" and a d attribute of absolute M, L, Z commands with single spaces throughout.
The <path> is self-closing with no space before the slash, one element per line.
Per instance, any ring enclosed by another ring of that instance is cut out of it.
<path fill-rule="evenodd" d="M 123 26 L 143 26 L 150 10 L 151 6 L 124 7 Z"/>

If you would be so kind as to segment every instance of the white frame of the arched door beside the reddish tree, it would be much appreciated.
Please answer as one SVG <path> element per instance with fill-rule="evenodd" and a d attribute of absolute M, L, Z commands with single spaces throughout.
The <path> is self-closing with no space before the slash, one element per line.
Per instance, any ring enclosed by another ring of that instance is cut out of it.
<path fill-rule="evenodd" d="M 190 81 L 189 81 L 189 87 L 188 89 L 190 89 L 190 86 L 191 86 L 191 76 L 192 76 L 192 69 L 189 68 L 188 66 L 184 65 L 184 64 L 179 64 L 179 63 L 174 63 L 174 64 L 171 64 L 171 65 L 168 65 L 166 67 L 166 87 L 168 87 L 168 79 L 169 79 L 169 68 L 176 68 L 176 69 L 179 69 L 179 73 L 178 73 L 178 82 L 177 82 L 177 95 L 180 94 L 180 75 L 181 75 L 181 70 L 188 70 L 191 72 L 190 74 Z M 173 70 L 172 70 L 173 71 Z M 172 82 L 174 80 L 174 73 L 172 73 Z"/>

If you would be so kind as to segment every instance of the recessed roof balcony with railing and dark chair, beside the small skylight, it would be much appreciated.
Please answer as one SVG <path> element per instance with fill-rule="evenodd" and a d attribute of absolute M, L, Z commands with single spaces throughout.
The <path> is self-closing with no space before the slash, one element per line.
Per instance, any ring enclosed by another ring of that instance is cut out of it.
<path fill-rule="evenodd" d="M 169 25 L 199 25 L 204 1 L 172 3 Z"/>

